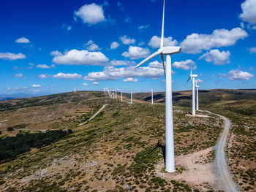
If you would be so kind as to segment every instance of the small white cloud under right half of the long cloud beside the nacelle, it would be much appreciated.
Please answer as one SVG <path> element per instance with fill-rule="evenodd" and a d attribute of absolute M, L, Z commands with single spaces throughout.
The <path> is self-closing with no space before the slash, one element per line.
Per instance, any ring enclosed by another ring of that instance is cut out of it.
<path fill-rule="evenodd" d="M 230 63 L 230 52 L 222 50 L 210 50 L 210 52 L 204 53 L 200 56 L 205 58 L 207 62 L 214 62 L 214 65 L 225 65 Z"/>

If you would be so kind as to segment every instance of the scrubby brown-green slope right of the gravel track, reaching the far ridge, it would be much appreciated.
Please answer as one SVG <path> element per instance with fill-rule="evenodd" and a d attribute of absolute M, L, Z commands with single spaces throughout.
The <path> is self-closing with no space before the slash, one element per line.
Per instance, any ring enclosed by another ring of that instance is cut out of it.
<path fill-rule="evenodd" d="M 164 93 L 156 93 L 163 102 Z M 191 91 L 175 92 L 174 104 L 191 106 Z M 229 166 L 241 191 L 256 191 L 256 90 L 200 91 L 200 109 L 225 115 L 232 122 L 227 149 Z M 136 96 L 135 96 L 136 97 Z M 150 100 L 150 93 L 138 93 Z"/>

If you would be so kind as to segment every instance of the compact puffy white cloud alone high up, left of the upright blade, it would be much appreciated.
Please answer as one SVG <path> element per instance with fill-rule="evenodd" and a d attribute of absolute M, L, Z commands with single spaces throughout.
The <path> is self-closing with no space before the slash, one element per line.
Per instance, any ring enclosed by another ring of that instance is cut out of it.
<path fill-rule="evenodd" d="M 85 4 L 75 12 L 75 15 L 83 20 L 83 23 L 90 25 L 105 21 L 104 11 L 102 6 L 97 4 Z"/>

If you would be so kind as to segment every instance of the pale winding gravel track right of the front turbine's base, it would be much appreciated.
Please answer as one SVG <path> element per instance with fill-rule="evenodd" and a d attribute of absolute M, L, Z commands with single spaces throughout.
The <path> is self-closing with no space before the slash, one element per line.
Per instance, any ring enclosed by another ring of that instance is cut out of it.
<path fill-rule="evenodd" d="M 206 111 L 208 112 L 208 111 Z M 221 136 L 219 137 L 219 141 L 215 146 L 215 163 L 218 169 L 220 180 L 222 181 L 222 185 L 225 189 L 225 192 L 238 192 L 239 189 L 236 183 L 232 180 L 230 172 L 228 171 L 227 161 L 225 157 L 225 148 L 227 146 L 227 136 L 230 130 L 230 120 L 222 115 L 218 115 L 212 112 L 208 112 L 214 115 L 219 116 L 224 120 L 224 130 L 222 131 Z"/>

